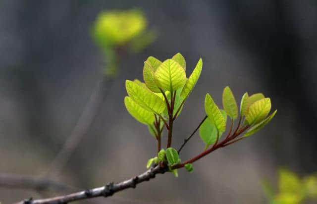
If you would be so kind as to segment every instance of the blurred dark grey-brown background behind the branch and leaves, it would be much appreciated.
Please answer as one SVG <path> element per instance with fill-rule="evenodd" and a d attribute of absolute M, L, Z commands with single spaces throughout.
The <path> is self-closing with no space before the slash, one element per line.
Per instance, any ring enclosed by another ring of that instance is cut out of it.
<path fill-rule="evenodd" d="M 145 13 L 155 40 L 137 52 L 116 50 L 118 70 L 105 74 L 94 22 L 101 11 L 129 8 Z M 205 116 L 206 93 L 221 104 L 227 85 L 238 102 L 244 92 L 270 97 L 275 118 L 247 140 L 197 161 L 191 174 L 158 175 L 134 190 L 78 203 L 266 204 L 261 180 L 276 185 L 279 167 L 300 176 L 317 171 L 316 25 L 315 0 L 1 0 L 0 173 L 87 189 L 143 172 L 156 141 L 127 112 L 125 80 L 143 78 L 148 56 L 163 60 L 181 52 L 187 76 L 199 57 L 204 66 L 176 120 L 175 148 Z M 65 165 L 54 164 L 76 134 L 82 136 L 71 141 L 77 145 L 69 146 Z M 180 156 L 203 149 L 197 134 Z M 3 185 L 0 202 L 66 193 L 40 187 Z"/>

